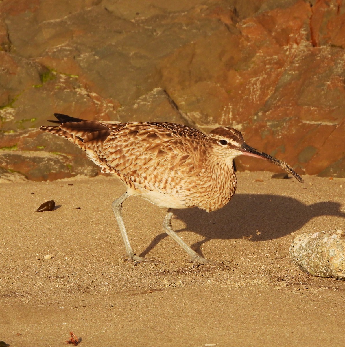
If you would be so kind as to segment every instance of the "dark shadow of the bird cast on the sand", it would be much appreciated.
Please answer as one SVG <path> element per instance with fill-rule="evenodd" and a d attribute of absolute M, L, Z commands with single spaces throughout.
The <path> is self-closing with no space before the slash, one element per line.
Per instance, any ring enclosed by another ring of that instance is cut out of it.
<path fill-rule="evenodd" d="M 193 231 L 204 237 L 191 245 L 199 254 L 201 245 L 211 239 L 242 239 L 251 241 L 271 240 L 295 232 L 320 216 L 345 218 L 337 202 L 322 201 L 310 205 L 291 197 L 268 194 L 237 194 L 222 209 L 207 213 L 197 208 L 174 210 L 174 219 L 182 220 L 186 227 L 180 231 Z M 146 256 L 163 238 L 157 235 L 140 256 Z"/>

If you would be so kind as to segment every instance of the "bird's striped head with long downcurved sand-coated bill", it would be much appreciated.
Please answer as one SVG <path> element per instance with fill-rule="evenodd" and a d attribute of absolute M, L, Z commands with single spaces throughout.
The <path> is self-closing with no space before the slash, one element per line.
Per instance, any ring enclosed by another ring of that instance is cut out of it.
<path fill-rule="evenodd" d="M 248 146 L 243 139 L 243 135 L 236 129 L 230 127 L 218 127 L 208 134 L 209 145 L 214 157 L 224 160 L 233 160 L 239 155 L 249 155 L 256 158 L 266 159 L 285 171 L 293 175 L 298 181 L 303 183 L 303 179 L 291 166 L 273 156 L 260 152 Z"/>

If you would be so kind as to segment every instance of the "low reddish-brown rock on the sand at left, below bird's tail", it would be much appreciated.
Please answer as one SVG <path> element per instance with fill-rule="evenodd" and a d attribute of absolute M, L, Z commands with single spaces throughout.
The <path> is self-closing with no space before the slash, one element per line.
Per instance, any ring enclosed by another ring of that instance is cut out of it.
<path fill-rule="evenodd" d="M 77 146 L 39 129 L 0 136 L 0 168 L 0 177 L 15 172 L 34 181 L 96 176 L 100 172 Z"/>

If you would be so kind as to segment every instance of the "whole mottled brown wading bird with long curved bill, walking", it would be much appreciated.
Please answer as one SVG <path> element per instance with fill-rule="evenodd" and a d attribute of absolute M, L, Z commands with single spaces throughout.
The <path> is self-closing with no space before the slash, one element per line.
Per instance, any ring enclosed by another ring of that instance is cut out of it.
<path fill-rule="evenodd" d="M 196 254 L 171 229 L 170 209 L 197 206 L 215 211 L 225 206 L 235 193 L 237 180 L 233 159 L 241 154 L 267 159 L 303 182 L 286 163 L 245 144 L 240 132 L 218 127 L 205 135 L 179 124 L 153 122 L 89 121 L 55 114 L 58 126 L 40 129 L 67 138 L 86 152 L 102 172 L 116 175 L 127 192 L 113 202 L 126 246 L 126 256 L 135 255 L 122 219 L 122 203 L 140 195 L 153 204 L 168 208 L 163 222 L 165 231 L 191 256 L 192 261 L 207 262 Z"/>

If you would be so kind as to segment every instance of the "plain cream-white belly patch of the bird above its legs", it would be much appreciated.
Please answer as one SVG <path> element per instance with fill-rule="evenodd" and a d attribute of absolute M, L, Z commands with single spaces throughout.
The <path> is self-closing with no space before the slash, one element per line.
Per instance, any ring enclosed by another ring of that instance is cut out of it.
<path fill-rule="evenodd" d="M 188 197 L 182 197 L 178 194 L 171 194 L 162 191 L 150 191 L 148 189 L 128 189 L 133 195 L 139 195 L 152 204 L 167 209 L 186 209 L 195 206 Z"/>

